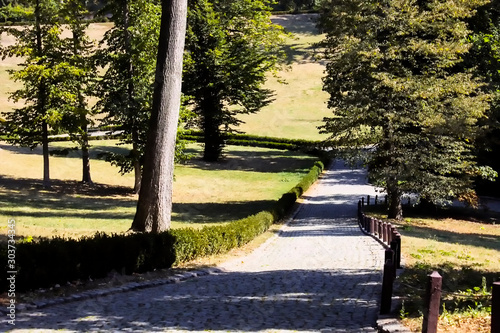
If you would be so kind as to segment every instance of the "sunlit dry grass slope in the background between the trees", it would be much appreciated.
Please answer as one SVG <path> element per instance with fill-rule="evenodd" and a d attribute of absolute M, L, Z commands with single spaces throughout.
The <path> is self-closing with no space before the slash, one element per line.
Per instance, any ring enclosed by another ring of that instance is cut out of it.
<path fill-rule="evenodd" d="M 314 17 L 314 14 L 274 17 L 276 24 L 294 36 L 285 46 L 290 67 L 279 73 L 287 84 L 270 77 L 266 87 L 276 92 L 275 101 L 258 114 L 240 116 L 245 121 L 241 130 L 290 139 L 321 140 L 327 137 L 319 134 L 317 129 L 331 111 L 326 107 L 329 95 L 322 91 L 325 66 L 314 59 L 317 50 L 313 44 L 323 38 L 316 30 Z"/>

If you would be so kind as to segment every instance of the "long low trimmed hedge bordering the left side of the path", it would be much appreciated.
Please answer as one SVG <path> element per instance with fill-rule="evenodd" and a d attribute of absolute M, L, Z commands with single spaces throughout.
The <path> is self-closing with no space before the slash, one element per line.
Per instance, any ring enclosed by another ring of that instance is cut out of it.
<path fill-rule="evenodd" d="M 284 218 L 323 171 L 316 162 L 309 173 L 276 201 L 273 209 L 262 211 L 222 226 L 202 229 L 172 229 L 160 234 L 106 235 L 98 233 L 79 240 L 52 238 L 16 245 L 16 288 L 25 291 L 65 284 L 68 281 L 102 278 L 115 270 L 124 274 L 169 268 L 196 258 L 225 253 L 244 245 Z M 6 247 L 0 262 L 7 264 Z M 0 273 L 0 291 L 8 290 L 7 266 Z"/>

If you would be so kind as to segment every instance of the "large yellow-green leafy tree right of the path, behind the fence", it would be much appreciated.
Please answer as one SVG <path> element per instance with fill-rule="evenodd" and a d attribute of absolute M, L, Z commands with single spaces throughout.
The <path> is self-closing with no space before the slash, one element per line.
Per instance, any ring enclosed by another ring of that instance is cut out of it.
<path fill-rule="evenodd" d="M 494 175 L 473 154 L 490 96 L 477 72 L 459 70 L 471 47 L 465 19 L 484 3 L 330 0 L 322 8 L 333 116 L 321 131 L 339 147 L 364 149 L 391 218 L 402 217 L 405 192 L 473 204 L 473 177 Z"/>

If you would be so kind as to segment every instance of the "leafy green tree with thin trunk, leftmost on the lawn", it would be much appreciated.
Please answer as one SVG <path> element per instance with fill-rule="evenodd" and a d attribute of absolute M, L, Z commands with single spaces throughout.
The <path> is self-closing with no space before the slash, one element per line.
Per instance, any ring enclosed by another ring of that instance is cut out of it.
<path fill-rule="evenodd" d="M 5 114 L 4 130 L 10 143 L 31 148 L 42 145 L 43 186 L 50 187 L 48 136 L 50 128 L 56 129 L 61 119 L 60 106 L 65 96 L 57 87 L 64 80 L 60 69 L 66 65 L 60 63 L 58 3 L 34 0 L 31 4 L 31 25 L 4 28 L 16 38 L 16 43 L 2 49 L 3 57 L 24 59 L 19 70 L 11 71 L 11 77 L 23 84 L 11 98 L 22 101 L 24 106 Z"/>

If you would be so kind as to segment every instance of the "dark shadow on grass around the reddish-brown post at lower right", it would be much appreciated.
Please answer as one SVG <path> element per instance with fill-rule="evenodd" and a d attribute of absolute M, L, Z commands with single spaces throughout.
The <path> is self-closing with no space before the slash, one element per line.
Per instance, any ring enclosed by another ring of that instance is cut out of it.
<path fill-rule="evenodd" d="M 500 281 L 500 272 L 481 270 L 477 265 L 456 267 L 449 262 L 440 265 L 417 263 L 405 267 L 400 277 L 400 286 L 395 292 L 405 299 L 404 311 L 409 317 L 419 317 L 424 311 L 428 275 L 433 271 L 437 271 L 443 277 L 441 312 L 443 306 L 448 312 L 491 306 L 491 285 L 495 281 Z M 486 283 L 485 292 L 483 292 L 483 279 Z"/>

